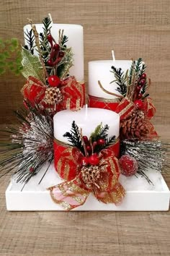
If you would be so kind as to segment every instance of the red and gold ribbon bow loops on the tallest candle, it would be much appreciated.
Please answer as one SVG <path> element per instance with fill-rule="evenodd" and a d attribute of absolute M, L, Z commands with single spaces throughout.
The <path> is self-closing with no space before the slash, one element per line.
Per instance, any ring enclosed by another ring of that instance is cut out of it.
<path fill-rule="evenodd" d="M 34 104 L 39 104 L 42 108 L 54 108 L 53 104 L 45 103 L 45 90 L 47 86 L 35 77 L 28 77 L 27 84 L 24 85 L 21 92 L 24 99 L 27 99 Z M 55 111 L 71 109 L 73 111 L 79 110 L 85 104 L 85 84 L 84 82 L 77 82 L 75 77 L 68 77 L 61 81 L 61 86 L 58 87 L 62 101 L 55 104 Z"/>

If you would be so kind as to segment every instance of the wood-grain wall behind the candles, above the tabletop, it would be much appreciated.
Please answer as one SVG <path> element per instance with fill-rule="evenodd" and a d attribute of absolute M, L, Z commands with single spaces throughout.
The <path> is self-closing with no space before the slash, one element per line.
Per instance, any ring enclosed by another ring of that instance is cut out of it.
<path fill-rule="evenodd" d="M 48 13 L 53 22 L 84 26 L 85 81 L 88 61 L 142 57 L 151 77 L 156 123 L 170 124 L 170 3 L 169 0 L 17 0 L 0 2 L 0 38 L 19 38 L 29 17 L 40 23 Z M 13 110 L 22 106 L 19 90 L 24 79 L 8 73 L 0 77 L 0 124 L 15 121 Z"/>

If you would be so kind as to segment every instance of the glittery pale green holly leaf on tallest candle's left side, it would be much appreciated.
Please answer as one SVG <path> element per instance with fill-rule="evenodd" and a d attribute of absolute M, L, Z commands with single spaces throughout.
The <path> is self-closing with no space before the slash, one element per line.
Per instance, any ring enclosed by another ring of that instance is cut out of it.
<path fill-rule="evenodd" d="M 22 75 L 27 79 L 32 76 L 45 82 L 40 59 L 22 47 Z"/>

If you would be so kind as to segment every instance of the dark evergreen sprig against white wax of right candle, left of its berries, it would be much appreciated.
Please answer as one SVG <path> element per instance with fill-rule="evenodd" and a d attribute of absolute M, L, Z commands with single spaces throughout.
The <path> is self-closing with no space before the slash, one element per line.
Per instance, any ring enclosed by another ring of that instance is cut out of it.
<path fill-rule="evenodd" d="M 128 78 L 128 72 L 126 72 L 126 74 L 124 74 L 124 72 L 122 72 L 122 69 L 121 68 L 116 68 L 114 66 L 111 67 L 112 69 L 112 73 L 115 74 L 115 79 L 116 80 L 113 80 L 112 82 L 116 82 L 118 87 L 117 87 L 117 91 L 119 93 L 121 93 L 122 95 L 125 95 L 126 92 L 127 92 L 127 85 L 126 85 L 126 81 L 127 81 L 127 78 Z M 110 83 L 112 83 L 110 82 Z"/>

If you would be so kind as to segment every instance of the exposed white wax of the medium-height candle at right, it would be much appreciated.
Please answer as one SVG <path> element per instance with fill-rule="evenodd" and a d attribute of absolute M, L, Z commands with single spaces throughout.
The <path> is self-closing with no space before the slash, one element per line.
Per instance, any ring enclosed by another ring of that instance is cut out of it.
<path fill-rule="evenodd" d="M 104 91 L 99 88 L 98 80 L 102 83 L 104 89 L 109 90 L 111 93 L 116 93 L 120 95 L 120 93 L 115 90 L 117 88 L 116 82 L 112 82 L 115 80 L 115 75 L 110 72 L 111 67 L 114 66 L 116 68 L 121 68 L 125 73 L 127 69 L 130 69 L 132 61 L 125 60 L 107 60 L 107 61 L 90 61 L 89 62 L 89 95 L 100 97 L 100 98 L 117 98 L 114 95 L 109 95 L 104 93 Z M 112 82 L 112 84 L 110 84 Z"/>

